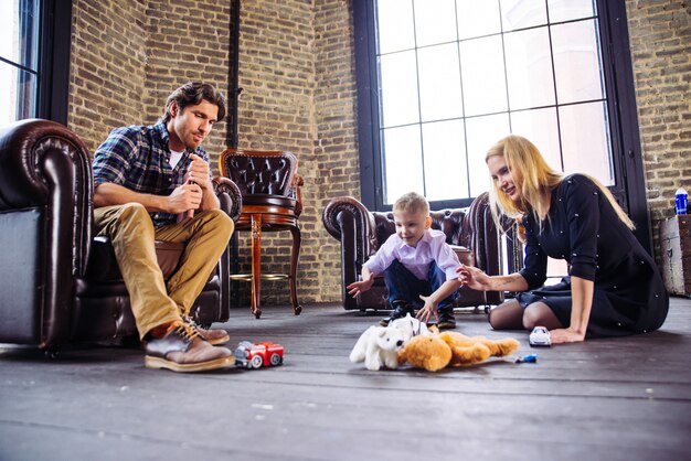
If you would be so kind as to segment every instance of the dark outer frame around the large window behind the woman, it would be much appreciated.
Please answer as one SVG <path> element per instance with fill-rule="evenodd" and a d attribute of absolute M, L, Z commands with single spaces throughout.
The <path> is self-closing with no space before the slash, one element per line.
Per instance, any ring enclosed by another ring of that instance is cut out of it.
<path fill-rule="evenodd" d="M 390 211 L 383 199 L 383 175 L 378 97 L 375 0 L 353 0 L 355 76 L 358 86 L 358 141 L 362 203 L 374 211 Z M 651 251 L 638 112 L 630 60 L 626 4 L 596 0 L 604 63 L 605 90 L 616 185 L 613 194 L 637 224 L 636 237 Z M 433 210 L 468 206 L 472 199 L 435 201 Z"/>

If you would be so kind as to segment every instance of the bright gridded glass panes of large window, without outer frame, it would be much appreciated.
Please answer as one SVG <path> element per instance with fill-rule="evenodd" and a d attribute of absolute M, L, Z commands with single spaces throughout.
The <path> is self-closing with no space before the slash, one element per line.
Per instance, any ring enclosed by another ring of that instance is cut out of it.
<path fill-rule="evenodd" d="M 384 203 L 410 189 L 477 196 L 482 153 L 509 132 L 612 184 L 592 0 L 378 0 L 375 12 Z"/>

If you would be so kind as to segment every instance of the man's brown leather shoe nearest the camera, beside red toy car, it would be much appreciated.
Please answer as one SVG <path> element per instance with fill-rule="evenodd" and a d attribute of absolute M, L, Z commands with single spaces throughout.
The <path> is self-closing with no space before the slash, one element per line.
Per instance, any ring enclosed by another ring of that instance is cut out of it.
<path fill-rule="evenodd" d="M 146 343 L 143 364 L 147 368 L 205 372 L 233 366 L 235 357 L 230 350 L 214 347 L 194 328 L 181 322 L 166 336 Z"/>

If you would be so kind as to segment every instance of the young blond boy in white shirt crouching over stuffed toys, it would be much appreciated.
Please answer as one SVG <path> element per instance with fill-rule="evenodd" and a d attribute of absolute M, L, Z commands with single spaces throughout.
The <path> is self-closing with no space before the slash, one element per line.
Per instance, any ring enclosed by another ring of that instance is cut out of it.
<path fill-rule="evenodd" d="M 382 319 L 382 326 L 406 313 L 414 314 L 415 307 L 422 305 L 417 313 L 421 321 L 434 315 L 440 330 L 455 328 L 451 304 L 461 285 L 456 274 L 460 262 L 444 233 L 430 228 L 427 200 L 410 192 L 394 203 L 393 216 L 396 233 L 362 265 L 362 281 L 350 283 L 349 294 L 357 297 L 369 290 L 374 276 L 384 272 L 393 310 Z"/>

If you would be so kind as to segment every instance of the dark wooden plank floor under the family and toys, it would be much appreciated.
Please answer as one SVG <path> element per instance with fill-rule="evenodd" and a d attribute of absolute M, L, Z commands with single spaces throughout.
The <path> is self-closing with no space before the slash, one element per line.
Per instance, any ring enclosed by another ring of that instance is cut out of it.
<path fill-rule="evenodd" d="M 457 331 L 517 337 L 514 357 L 436 374 L 369 372 L 355 340 L 381 313 L 234 310 L 232 345 L 274 341 L 285 364 L 180 375 L 135 349 L 57 361 L 0 345 L 0 460 L 690 460 L 691 300 L 658 332 L 531 350 L 460 313 Z"/>

